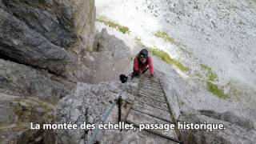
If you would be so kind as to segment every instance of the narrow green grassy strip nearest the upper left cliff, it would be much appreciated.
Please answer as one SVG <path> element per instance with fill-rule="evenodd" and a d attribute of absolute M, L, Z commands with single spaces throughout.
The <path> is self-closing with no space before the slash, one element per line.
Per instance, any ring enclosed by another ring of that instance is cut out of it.
<path fill-rule="evenodd" d="M 129 28 L 126 27 L 126 26 L 121 26 L 117 23 L 114 23 L 114 22 L 110 22 L 109 20 L 105 19 L 105 18 L 97 18 L 97 22 L 102 22 L 104 23 L 106 26 L 110 26 L 114 29 L 117 29 L 119 31 L 121 31 L 123 34 L 126 34 L 126 33 L 129 33 Z"/>

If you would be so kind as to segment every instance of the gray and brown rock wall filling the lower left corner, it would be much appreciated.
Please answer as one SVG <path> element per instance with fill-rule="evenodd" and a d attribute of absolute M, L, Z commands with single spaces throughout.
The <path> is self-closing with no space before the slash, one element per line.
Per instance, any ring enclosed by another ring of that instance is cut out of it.
<path fill-rule="evenodd" d="M 0 59 L 0 143 L 54 143 L 53 131 L 30 130 L 30 122 L 54 122 L 58 100 L 72 85 L 46 70 Z"/>

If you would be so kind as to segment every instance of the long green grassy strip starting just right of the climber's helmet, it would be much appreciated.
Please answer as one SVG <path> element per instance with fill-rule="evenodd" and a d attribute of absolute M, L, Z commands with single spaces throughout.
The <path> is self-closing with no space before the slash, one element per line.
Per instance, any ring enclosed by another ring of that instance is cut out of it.
<path fill-rule="evenodd" d="M 170 65 L 178 67 L 178 69 L 182 70 L 183 72 L 187 72 L 189 70 L 189 68 L 186 66 L 183 66 L 181 62 L 178 62 L 177 60 L 170 58 L 170 55 L 163 50 L 159 50 L 158 48 L 154 47 L 154 48 L 150 48 L 149 51 L 151 54 L 154 54 L 158 58 L 161 58 L 162 61 L 165 61 Z"/>

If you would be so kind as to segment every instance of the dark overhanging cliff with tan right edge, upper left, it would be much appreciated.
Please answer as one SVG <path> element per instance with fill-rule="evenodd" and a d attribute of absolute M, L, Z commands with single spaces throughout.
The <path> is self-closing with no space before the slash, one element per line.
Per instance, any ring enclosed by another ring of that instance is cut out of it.
<path fill-rule="evenodd" d="M 92 50 L 93 0 L 2 0 L 0 19 L 0 54 L 14 62 L 76 77 L 81 52 Z"/>

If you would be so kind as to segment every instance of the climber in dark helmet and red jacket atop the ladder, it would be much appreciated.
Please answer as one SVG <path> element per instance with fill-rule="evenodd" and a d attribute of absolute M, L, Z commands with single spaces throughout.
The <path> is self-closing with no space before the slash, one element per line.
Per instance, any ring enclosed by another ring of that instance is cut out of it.
<path fill-rule="evenodd" d="M 142 49 L 134 58 L 134 72 L 132 73 L 132 77 L 141 76 L 148 69 L 150 69 L 150 77 L 154 77 L 152 58 L 148 55 L 146 49 Z"/>

